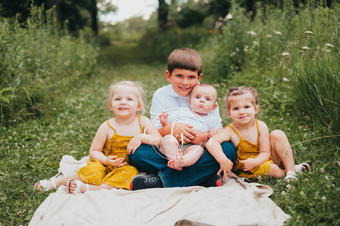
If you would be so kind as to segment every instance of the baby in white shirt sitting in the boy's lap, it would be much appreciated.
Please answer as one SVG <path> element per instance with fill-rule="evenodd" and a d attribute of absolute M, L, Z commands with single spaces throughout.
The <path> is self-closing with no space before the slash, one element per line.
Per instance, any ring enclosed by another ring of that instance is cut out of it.
<path fill-rule="evenodd" d="M 207 83 L 197 84 L 192 88 L 188 100 L 190 109 L 179 108 L 179 110 L 171 112 L 163 111 L 159 115 L 158 120 L 162 126 L 179 122 L 192 125 L 192 129 L 205 132 L 209 135 L 205 136 L 210 138 L 223 130 L 218 119 L 209 113 L 217 108 L 216 99 L 217 91 L 212 85 Z M 183 167 L 191 166 L 198 161 L 203 154 L 204 145 L 204 143 L 179 143 L 177 139 L 170 134 L 163 138 L 160 144 L 160 150 L 170 159 L 168 161 L 169 167 L 182 170 Z"/>

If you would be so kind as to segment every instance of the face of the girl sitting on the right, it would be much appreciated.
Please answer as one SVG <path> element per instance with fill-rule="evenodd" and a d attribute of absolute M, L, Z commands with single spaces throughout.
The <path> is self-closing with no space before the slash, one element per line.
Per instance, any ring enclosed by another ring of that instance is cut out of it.
<path fill-rule="evenodd" d="M 250 95 L 247 93 L 236 97 L 231 102 L 230 109 L 227 109 L 229 117 L 233 119 L 235 124 L 253 123 L 260 106 L 253 105 Z"/>

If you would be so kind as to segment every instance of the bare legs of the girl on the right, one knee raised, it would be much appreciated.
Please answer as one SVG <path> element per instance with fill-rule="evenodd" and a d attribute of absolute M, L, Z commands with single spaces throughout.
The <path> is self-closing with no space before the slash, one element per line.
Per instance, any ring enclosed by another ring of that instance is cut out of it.
<path fill-rule="evenodd" d="M 286 134 L 280 130 L 274 130 L 273 132 L 270 133 L 269 138 L 271 145 L 271 155 L 273 158 L 273 162 L 275 163 L 277 168 L 279 168 L 280 163 L 282 162 L 286 172 L 288 171 L 295 172 L 293 152 Z M 279 176 L 279 174 L 276 174 L 279 173 L 277 168 L 275 166 L 270 167 L 269 172 L 273 170 L 274 172 L 272 173 L 275 173 L 275 175 L 273 174 L 273 177 Z M 281 177 L 284 176 L 285 173 L 283 173 Z"/>

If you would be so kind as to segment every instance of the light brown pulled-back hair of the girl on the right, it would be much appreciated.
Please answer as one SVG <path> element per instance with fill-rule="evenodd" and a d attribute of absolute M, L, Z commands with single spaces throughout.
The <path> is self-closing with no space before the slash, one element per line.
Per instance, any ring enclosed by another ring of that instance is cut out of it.
<path fill-rule="evenodd" d="M 237 96 L 249 93 L 250 101 L 254 106 L 257 105 L 258 94 L 256 90 L 251 86 L 234 86 L 230 88 L 229 92 L 225 95 L 225 105 L 228 110 L 230 110 L 231 102 L 233 102 Z"/>

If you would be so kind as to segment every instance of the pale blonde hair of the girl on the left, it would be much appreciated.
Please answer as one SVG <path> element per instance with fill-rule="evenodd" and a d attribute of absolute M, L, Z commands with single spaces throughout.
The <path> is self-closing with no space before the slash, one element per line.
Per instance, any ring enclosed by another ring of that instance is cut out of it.
<path fill-rule="evenodd" d="M 144 115 L 145 114 L 145 106 L 144 106 L 144 101 L 143 101 L 143 99 L 144 99 L 144 96 L 143 96 L 144 88 L 142 86 L 142 83 L 141 82 L 125 81 L 125 80 L 113 83 L 108 87 L 108 91 L 106 92 L 106 95 L 105 95 L 106 101 L 104 103 L 105 104 L 104 111 L 106 113 L 105 115 L 110 116 L 110 115 L 113 114 L 112 110 L 110 110 L 110 108 L 109 108 L 109 104 L 111 104 L 113 92 L 114 92 L 115 88 L 117 86 L 120 86 L 120 85 L 132 86 L 136 89 L 138 104 L 141 107 L 139 114 Z M 114 116 L 114 114 L 113 114 L 113 116 Z"/>

